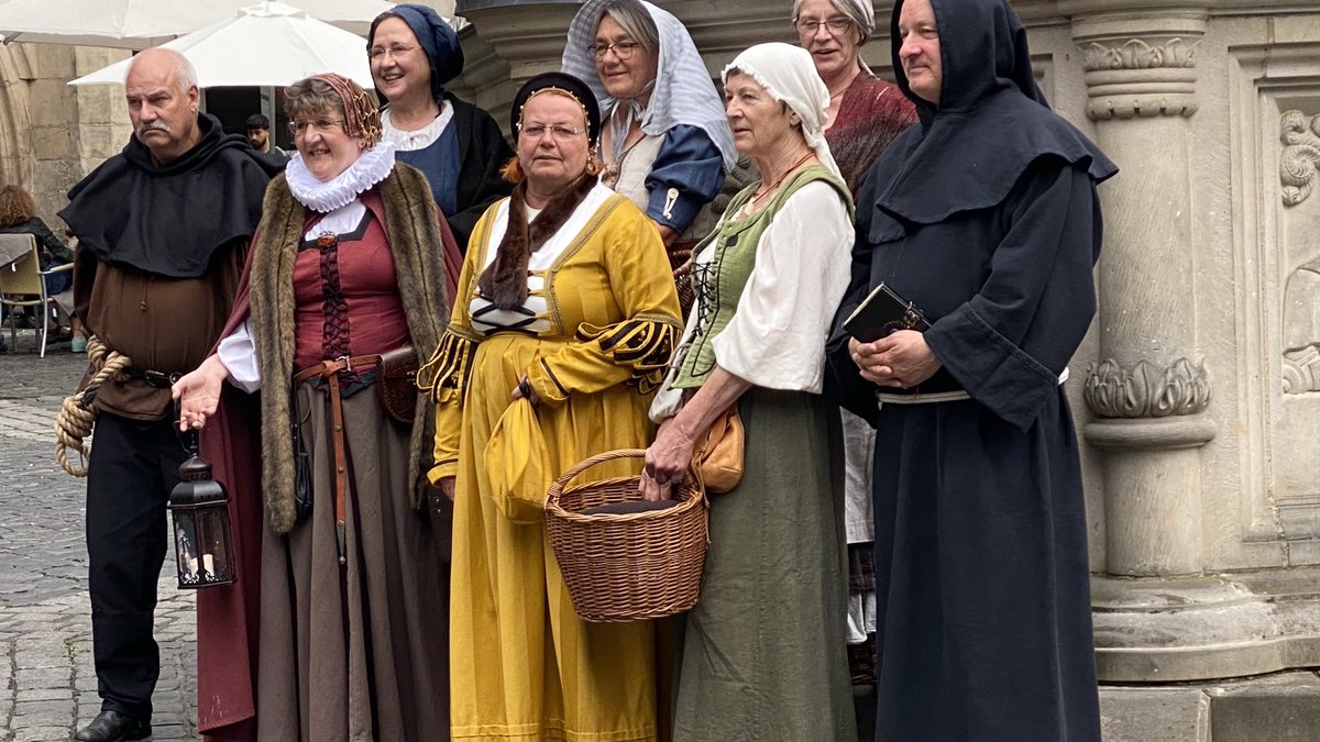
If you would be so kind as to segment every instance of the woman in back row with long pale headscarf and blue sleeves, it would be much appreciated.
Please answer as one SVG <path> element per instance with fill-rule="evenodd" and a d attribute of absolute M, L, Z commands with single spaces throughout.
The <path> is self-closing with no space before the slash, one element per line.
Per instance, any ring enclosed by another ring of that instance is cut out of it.
<path fill-rule="evenodd" d="M 667 246 L 690 250 L 714 226 L 706 205 L 738 154 L 688 29 L 644 0 L 589 0 L 562 63 L 601 106 L 601 181 L 645 211 Z"/>

